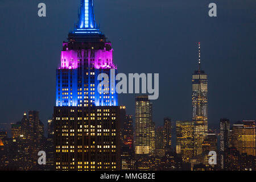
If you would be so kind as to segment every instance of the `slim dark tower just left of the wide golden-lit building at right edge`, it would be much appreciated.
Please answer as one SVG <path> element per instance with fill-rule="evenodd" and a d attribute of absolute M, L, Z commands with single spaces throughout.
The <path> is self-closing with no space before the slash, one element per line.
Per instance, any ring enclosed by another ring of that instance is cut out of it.
<path fill-rule="evenodd" d="M 229 130 L 230 124 L 229 119 L 222 118 L 220 119 L 220 160 L 221 168 L 224 169 L 225 155 L 224 151 L 229 148 Z"/>

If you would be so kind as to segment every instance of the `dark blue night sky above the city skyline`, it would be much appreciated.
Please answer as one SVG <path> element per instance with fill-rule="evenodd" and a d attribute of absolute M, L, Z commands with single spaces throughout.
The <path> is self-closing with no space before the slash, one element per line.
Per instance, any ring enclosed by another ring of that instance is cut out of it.
<path fill-rule="evenodd" d="M 38 3 L 47 6 L 39 18 Z M 217 4 L 217 18 L 208 5 Z M 0 123 L 38 110 L 46 122 L 55 104 L 63 41 L 77 22 L 80 0 L 0 1 Z M 255 0 L 95 0 L 100 29 L 112 42 L 119 73 L 159 73 L 154 122 L 191 119 L 191 77 L 208 73 L 209 125 L 255 119 Z M 135 113 L 135 95 L 119 95 Z"/>

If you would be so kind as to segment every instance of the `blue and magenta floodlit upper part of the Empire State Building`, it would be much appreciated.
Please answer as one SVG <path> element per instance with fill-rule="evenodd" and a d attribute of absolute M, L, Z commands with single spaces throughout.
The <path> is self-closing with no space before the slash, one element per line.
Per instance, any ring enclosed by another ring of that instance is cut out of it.
<path fill-rule="evenodd" d="M 56 70 L 56 106 L 117 106 L 113 48 L 97 28 L 93 1 L 82 0 L 79 22 L 63 43 L 61 63 Z M 109 92 L 98 92 L 100 73 L 109 76 Z"/>

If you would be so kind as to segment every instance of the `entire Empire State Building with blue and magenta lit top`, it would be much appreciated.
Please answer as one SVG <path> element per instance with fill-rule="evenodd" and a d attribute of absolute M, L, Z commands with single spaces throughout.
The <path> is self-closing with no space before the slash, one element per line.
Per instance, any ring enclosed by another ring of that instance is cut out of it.
<path fill-rule="evenodd" d="M 56 169 L 117 170 L 125 107 L 118 106 L 115 93 L 113 48 L 95 22 L 92 0 L 81 1 L 79 17 L 56 71 Z M 97 79 L 100 73 L 109 77 L 109 86 Z"/>

